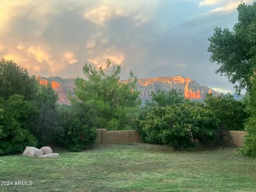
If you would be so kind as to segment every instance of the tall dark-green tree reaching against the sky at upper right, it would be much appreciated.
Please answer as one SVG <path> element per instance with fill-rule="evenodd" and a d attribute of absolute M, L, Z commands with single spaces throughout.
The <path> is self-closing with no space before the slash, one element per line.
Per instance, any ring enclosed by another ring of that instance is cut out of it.
<path fill-rule="evenodd" d="M 252 5 L 241 3 L 238 22 L 233 31 L 216 27 L 209 38 L 211 61 L 220 65 L 216 73 L 227 76 L 235 84 L 236 92 L 251 90 L 250 76 L 256 66 L 256 1 Z"/>

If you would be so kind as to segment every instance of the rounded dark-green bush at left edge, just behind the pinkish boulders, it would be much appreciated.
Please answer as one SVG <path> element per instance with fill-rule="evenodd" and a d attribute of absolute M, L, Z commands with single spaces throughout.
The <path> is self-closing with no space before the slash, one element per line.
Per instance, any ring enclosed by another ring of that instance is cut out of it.
<path fill-rule="evenodd" d="M 14 94 L 7 101 L 0 98 L 0 155 L 37 145 L 31 134 L 37 116 L 38 111 L 22 95 Z"/>

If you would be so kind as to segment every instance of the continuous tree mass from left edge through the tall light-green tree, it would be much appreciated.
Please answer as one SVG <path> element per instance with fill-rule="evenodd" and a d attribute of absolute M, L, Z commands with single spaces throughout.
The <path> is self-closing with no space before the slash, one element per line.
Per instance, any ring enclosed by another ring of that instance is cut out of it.
<path fill-rule="evenodd" d="M 0 155 L 26 146 L 49 143 L 78 151 L 93 145 L 97 128 L 131 129 L 140 100 L 137 79 L 119 82 L 121 66 L 96 70 L 85 65 L 86 79 L 75 81 L 71 106 L 58 105 L 51 83 L 39 85 L 35 76 L 14 61 L 0 61 Z"/>

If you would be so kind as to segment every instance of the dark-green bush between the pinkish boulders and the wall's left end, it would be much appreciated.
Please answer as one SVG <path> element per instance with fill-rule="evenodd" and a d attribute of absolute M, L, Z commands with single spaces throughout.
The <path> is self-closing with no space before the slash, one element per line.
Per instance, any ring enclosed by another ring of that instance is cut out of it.
<path fill-rule="evenodd" d="M 87 125 L 90 119 L 80 107 L 59 106 L 62 119 L 62 132 L 59 132 L 59 142 L 70 151 L 79 151 L 93 145 L 96 138 L 95 127 Z"/>

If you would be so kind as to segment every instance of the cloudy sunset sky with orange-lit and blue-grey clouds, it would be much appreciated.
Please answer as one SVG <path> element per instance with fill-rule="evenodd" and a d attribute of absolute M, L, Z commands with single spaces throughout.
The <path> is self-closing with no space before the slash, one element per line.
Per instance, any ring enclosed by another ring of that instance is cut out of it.
<path fill-rule="evenodd" d="M 233 93 L 207 52 L 215 27 L 233 29 L 241 0 L 0 0 L 0 57 L 30 74 L 83 77 L 122 65 L 121 79 L 184 76 Z M 244 0 L 251 3 L 252 0 Z"/>

